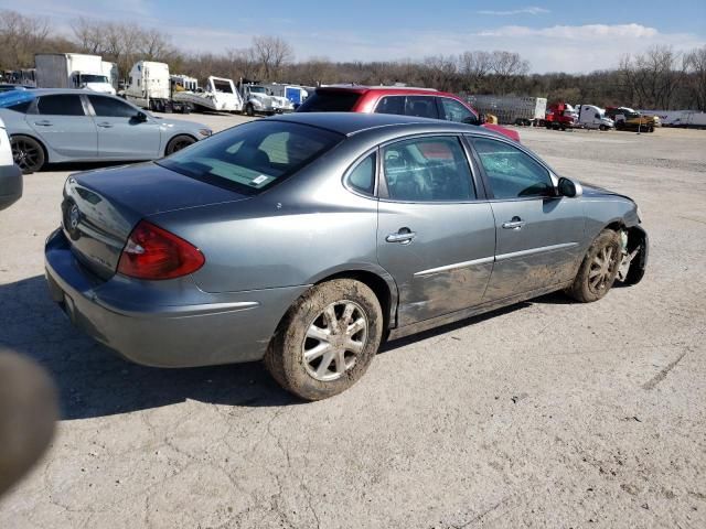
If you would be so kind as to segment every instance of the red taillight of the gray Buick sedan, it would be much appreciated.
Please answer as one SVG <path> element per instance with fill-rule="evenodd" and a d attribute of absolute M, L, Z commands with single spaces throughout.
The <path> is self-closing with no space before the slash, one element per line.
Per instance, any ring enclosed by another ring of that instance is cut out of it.
<path fill-rule="evenodd" d="M 195 246 L 140 220 L 122 249 L 118 273 L 138 279 L 174 279 L 195 272 L 205 261 Z"/>

